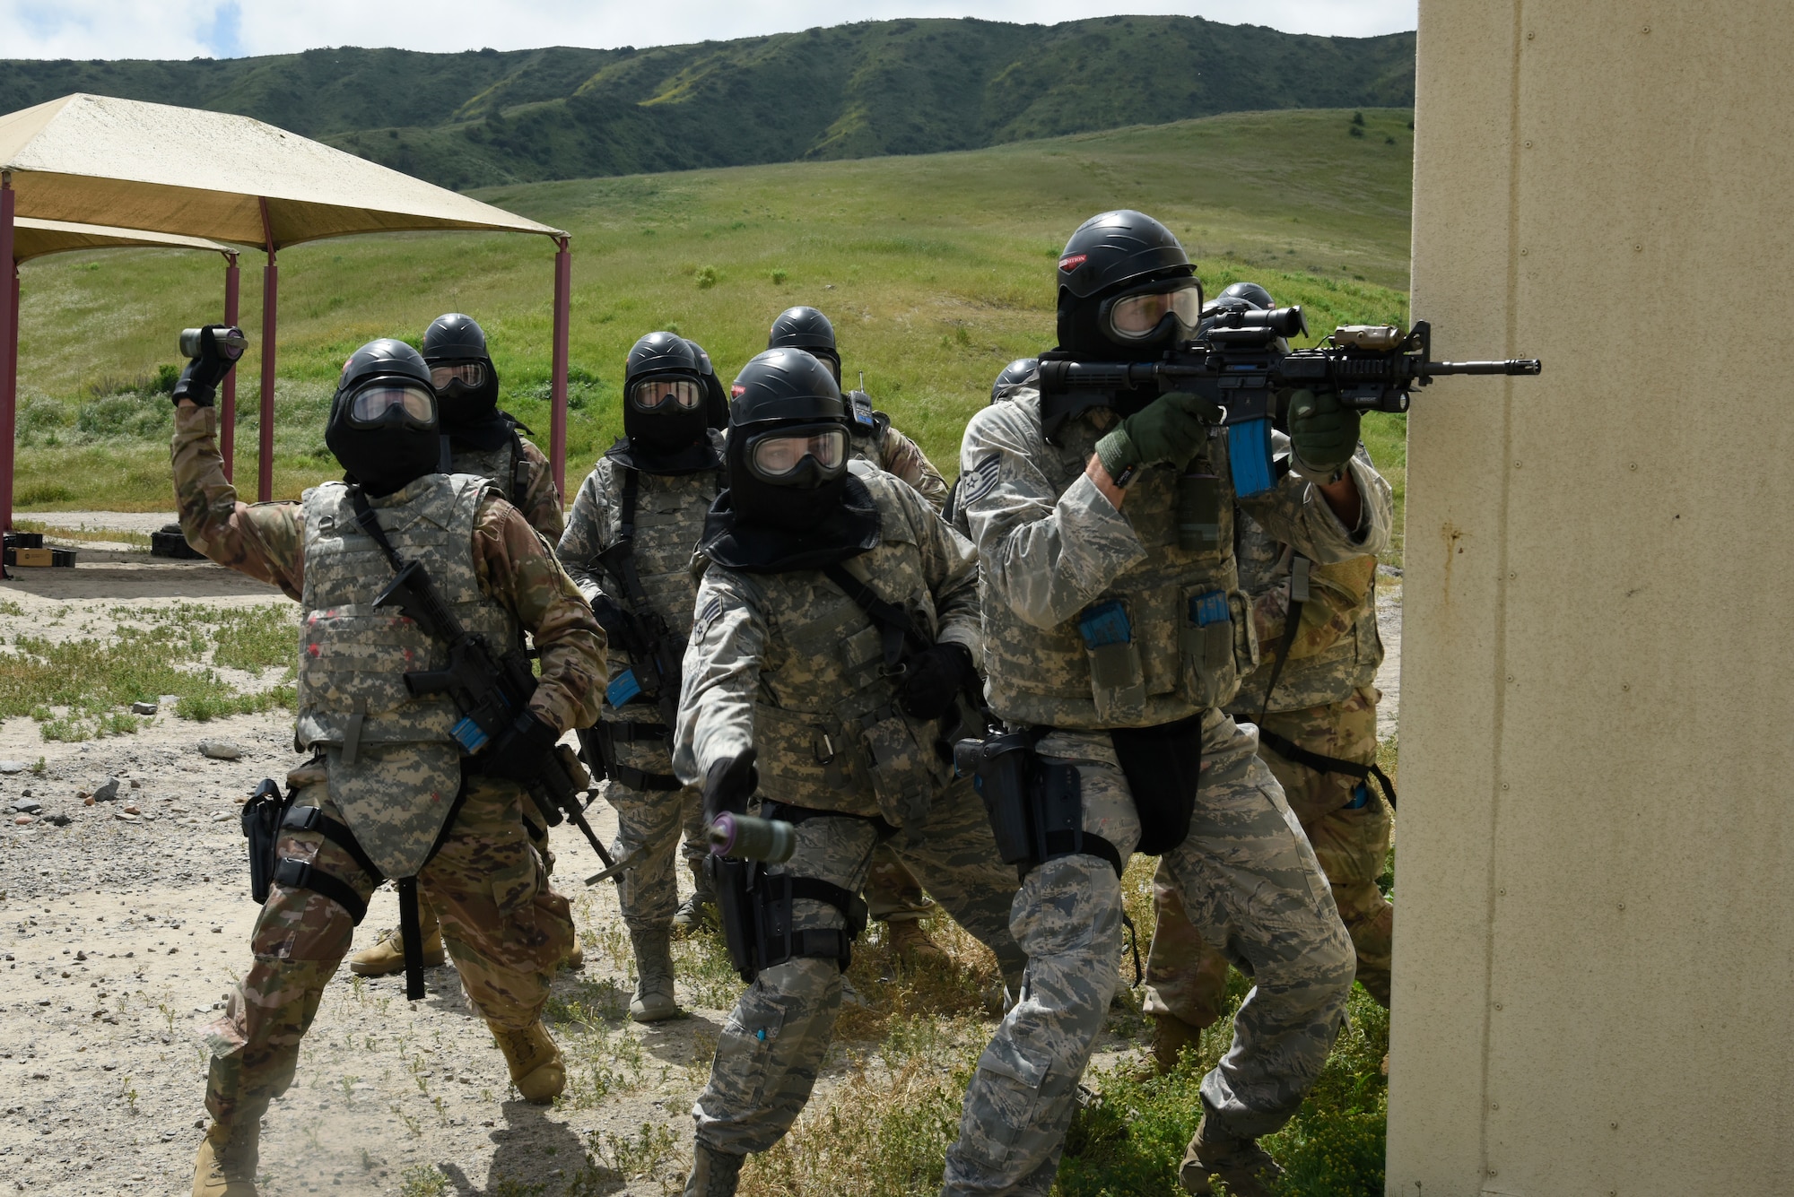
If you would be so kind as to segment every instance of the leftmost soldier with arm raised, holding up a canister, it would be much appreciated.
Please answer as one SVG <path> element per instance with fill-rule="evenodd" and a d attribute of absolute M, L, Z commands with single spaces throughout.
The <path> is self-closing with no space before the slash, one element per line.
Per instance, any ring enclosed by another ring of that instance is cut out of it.
<path fill-rule="evenodd" d="M 310 760 L 287 778 L 292 808 L 255 962 L 206 1029 L 213 1122 L 196 1197 L 253 1197 L 262 1113 L 292 1082 L 323 987 L 386 876 L 414 876 L 440 910 L 448 955 L 524 1097 L 560 1093 L 560 1052 L 540 1012 L 572 916 L 524 831 L 520 781 L 562 729 L 592 719 L 605 685 L 603 631 L 542 538 L 484 478 L 434 473 L 436 396 L 414 349 L 377 340 L 348 360 L 325 439 L 352 480 L 298 504 L 246 505 L 224 480 L 212 407 L 224 373 L 201 358 L 174 391 L 181 530 L 210 559 L 303 604 L 294 738 Z M 404 685 L 411 668 L 441 668 L 447 645 L 373 611 L 393 554 L 364 521 L 429 570 L 468 629 L 493 645 L 527 631 L 540 650 L 529 710 L 479 756 L 456 742 L 459 711 L 445 695 L 411 697 Z"/>

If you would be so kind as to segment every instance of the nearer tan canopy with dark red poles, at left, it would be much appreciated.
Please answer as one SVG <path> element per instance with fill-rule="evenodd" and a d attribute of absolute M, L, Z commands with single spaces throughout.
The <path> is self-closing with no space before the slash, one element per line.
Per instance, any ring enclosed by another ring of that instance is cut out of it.
<path fill-rule="evenodd" d="M 22 219 L 215 238 L 267 253 L 262 274 L 262 423 L 257 493 L 274 487 L 274 346 L 278 249 L 325 237 L 405 231 L 536 233 L 556 242 L 554 360 L 549 461 L 565 493 L 567 324 L 572 258 L 567 233 L 483 204 L 407 174 L 344 154 L 249 116 L 65 95 L 0 116 L 0 258 L 18 256 Z M 206 244 L 210 249 L 217 245 Z M 226 321 L 237 319 L 235 262 Z M 11 292 L 11 296 L 9 296 Z M 0 287 L 0 339 L 18 324 L 16 276 Z M 13 414 L 18 337 L 0 346 L 0 527 L 13 520 Z M 222 396 L 222 444 L 231 468 L 235 376 Z"/>

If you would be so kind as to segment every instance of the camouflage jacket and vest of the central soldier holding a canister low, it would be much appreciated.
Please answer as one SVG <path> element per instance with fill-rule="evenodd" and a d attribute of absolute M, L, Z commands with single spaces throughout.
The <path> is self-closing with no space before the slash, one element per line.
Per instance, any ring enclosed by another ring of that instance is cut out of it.
<path fill-rule="evenodd" d="M 936 643 L 980 652 L 978 564 L 908 486 L 850 462 L 879 511 L 879 545 L 843 568 Z M 951 778 L 933 722 L 902 715 L 879 629 L 822 570 L 743 573 L 709 564 L 685 649 L 673 769 L 692 783 L 755 745 L 779 801 L 883 815 L 902 826 Z M 927 790 L 927 794 L 924 794 Z"/>

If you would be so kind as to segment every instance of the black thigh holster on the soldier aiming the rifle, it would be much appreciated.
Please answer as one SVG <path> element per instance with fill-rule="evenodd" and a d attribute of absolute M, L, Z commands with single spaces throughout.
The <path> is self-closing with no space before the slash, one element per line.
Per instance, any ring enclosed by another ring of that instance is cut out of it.
<path fill-rule="evenodd" d="M 1084 792 L 1076 765 L 1048 765 L 1035 745 L 1048 729 L 1005 731 L 953 745 L 954 769 L 972 774 L 1003 864 L 1017 880 L 1058 857 L 1102 857 L 1121 876 L 1121 851 L 1084 830 Z"/>

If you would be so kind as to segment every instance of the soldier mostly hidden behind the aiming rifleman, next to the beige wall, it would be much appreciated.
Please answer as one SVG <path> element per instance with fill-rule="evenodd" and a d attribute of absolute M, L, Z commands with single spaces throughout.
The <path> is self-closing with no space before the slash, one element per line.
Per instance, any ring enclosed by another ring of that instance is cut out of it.
<path fill-rule="evenodd" d="M 1240 586 L 1252 597 L 1252 622 L 1265 649 L 1227 710 L 1258 724 L 1258 754 L 1283 787 L 1333 885 L 1358 959 L 1358 982 L 1387 1007 L 1396 909 L 1376 878 L 1389 855 L 1392 815 L 1369 785 L 1371 776 L 1383 781 L 1374 767 L 1380 697 L 1374 681 L 1383 663 L 1376 557 L 1313 564 L 1243 511 L 1236 539 Z M 1154 1018 L 1155 1064 L 1168 1072 L 1184 1045 L 1195 1043 L 1225 1009 L 1227 957 L 1189 925 L 1163 865 L 1154 878 L 1154 903 L 1157 926 L 1146 960 L 1145 1012 Z"/>

